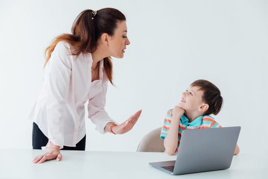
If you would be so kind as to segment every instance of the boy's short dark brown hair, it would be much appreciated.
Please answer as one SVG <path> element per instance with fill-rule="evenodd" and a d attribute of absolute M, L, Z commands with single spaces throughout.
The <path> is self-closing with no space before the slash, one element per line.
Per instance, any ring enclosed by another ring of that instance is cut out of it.
<path fill-rule="evenodd" d="M 208 80 L 196 80 L 191 83 L 190 86 L 199 86 L 204 92 L 202 100 L 209 105 L 208 110 L 204 115 L 217 115 L 222 109 L 223 97 L 221 91 L 216 85 Z"/>

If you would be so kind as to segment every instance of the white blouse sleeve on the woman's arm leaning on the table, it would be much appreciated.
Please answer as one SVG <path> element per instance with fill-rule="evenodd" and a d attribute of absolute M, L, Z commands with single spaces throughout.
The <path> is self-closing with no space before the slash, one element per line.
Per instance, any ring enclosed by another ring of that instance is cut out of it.
<path fill-rule="evenodd" d="M 45 66 L 44 84 L 47 85 L 46 115 L 48 125 L 47 138 L 55 145 L 63 147 L 64 122 L 63 110 L 66 106 L 71 62 L 64 43 L 59 42 Z"/>

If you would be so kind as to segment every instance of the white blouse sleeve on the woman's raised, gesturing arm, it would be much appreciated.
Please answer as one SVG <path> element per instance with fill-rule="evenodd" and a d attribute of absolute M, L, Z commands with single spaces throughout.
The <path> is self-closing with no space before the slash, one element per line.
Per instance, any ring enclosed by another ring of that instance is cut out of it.
<path fill-rule="evenodd" d="M 88 101 L 88 118 L 96 125 L 95 129 L 100 133 L 106 133 L 104 130 L 106 124 L 114 122 L 105 110 L 107 87 L 108 81 L 102 84 L 102 92 Z"/>

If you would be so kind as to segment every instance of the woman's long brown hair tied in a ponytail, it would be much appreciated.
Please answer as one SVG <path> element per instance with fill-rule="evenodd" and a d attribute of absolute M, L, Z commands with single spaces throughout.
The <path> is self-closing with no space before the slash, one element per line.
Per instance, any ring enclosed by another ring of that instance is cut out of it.
<path fill-rule="evenodd" d="M 126 20 L 126 17 L 117 9 L 104 8 L 93 15 L 92 10 L 84 10 L 74 21 L 71 34 L 61 34 L 54 39 L 52 44 L 45 49 L 45 64 L 50 60 L 59 41 L 65 41 L 71 45 L 71 55 L 80 53 L 92 53 L 96 50 L 97 42 L 103 33 L 113 35 L 119 21 Z M 105 73 L 111 82 L 113 65 L 111 57 L 104 58 Z"/>

